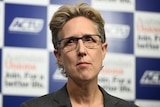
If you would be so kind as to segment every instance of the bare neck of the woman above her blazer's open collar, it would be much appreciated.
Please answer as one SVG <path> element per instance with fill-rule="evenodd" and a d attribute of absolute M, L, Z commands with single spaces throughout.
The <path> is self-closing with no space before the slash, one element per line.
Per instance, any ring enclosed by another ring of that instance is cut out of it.
<path fill-rule="evenodd" d="M 75 83 L 72 80 L 68 80 L 67 90 L 71 103 L 79 105 L 103 104 L 103 95 L 99 90 L 97 82 L 82 83 Z"/>

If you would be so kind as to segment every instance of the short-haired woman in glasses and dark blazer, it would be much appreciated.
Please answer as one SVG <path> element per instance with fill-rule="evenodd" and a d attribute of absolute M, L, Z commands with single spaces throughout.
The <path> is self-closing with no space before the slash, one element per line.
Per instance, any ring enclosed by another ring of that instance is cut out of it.
<path fill-rule="evenodd" d="M 50 22 L 54 55 L 67 83 L 60 90 L 21 107 L 137 107 L 98 85 L 106 54 L 104 20 L 85 3 L 64 5 Z"/>

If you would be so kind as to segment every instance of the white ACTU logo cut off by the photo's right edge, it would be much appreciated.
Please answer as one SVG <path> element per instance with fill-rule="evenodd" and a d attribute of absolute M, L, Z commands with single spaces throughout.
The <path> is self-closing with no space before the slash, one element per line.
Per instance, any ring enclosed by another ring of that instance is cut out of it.
<path fill-rule="evenodd" d="M 160 71 L 145 71 L 140 84 L 146 85 L 160 85 Z"/>

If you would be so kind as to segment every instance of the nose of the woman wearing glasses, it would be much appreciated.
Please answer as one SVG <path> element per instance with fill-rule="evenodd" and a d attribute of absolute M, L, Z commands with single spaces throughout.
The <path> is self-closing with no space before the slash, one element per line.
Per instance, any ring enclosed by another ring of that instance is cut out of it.
<path fill-rule="evenodd" d="M 86 47 L 81 39 L 77 42 L 77 52 L 78 56 L 85 56 L 86 55 Z"/>

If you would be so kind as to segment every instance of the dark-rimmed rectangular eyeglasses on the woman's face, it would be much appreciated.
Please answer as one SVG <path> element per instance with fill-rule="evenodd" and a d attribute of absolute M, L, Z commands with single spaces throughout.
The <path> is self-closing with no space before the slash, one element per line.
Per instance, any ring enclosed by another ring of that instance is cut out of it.
<path fill-rule="evenodd" d="M 76 49 L 78 40 L 81 39 L 86 48 L 93 49 L 99 45 L 101 36 L 98 34 L 87 34 L 82 37 L 69 37 L 61 39 L 58 42 L 58 47 L 62 48 L 66 52 Z"/>

